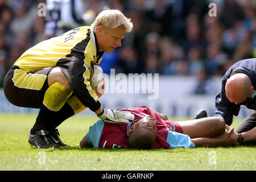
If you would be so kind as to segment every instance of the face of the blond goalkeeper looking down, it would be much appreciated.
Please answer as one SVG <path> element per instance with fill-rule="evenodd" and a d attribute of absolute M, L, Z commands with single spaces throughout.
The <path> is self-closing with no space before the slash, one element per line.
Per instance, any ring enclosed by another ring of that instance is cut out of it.
<path fill-rule="evenodd" d="M 117 27 L 114 30 L 106 30 L 102 26 L 99 28 L 97 39 L 100 51 L 112 53 L 115 48 L 122 46 L 121 40 L 125 37 L 124 28 Z"/>

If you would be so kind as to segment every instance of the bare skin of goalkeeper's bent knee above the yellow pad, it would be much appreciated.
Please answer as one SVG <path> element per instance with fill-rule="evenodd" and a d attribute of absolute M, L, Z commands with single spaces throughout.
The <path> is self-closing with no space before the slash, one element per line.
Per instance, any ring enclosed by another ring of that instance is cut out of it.
<path fill-rule="evenodd" d="M 53 68 L 48 75 L 48 85 L 51 86 L 55 82 L 58 82 L 60 85 L 65 86 L 65 88 L 71 88 L 68 78 L 64 75 L 59 67 Z"/>

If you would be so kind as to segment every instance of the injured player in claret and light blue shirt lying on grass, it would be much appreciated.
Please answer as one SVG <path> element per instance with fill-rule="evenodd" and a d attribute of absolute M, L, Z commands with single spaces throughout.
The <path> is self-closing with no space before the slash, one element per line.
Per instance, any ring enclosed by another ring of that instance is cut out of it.
<path fill-rule="evenodd" d="M 151 149 L 233 145 L 230 143 L 234 129 L 225 126 L 219 117 L 174 122 L 146 106 L 118 110 L 133 113 L 134 121 L 106 123 L 99 120 L 82 138 L 80 147 Z"/>

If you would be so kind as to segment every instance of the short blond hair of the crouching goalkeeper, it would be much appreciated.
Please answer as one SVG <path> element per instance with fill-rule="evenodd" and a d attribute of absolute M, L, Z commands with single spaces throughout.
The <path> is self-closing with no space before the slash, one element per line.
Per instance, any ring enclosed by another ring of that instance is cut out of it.
<path fill-rule="evenodd" d="M 96 32 L 99 26 L 104 26 L 107 30 L 123 27 L 125 32 L 130 32 L 133 29 L 131 19 L 126 18 L 121 11 L 112 10 L 108 6 L 105 6 L 104 9 L 90 26 L 93 32 Z"/>

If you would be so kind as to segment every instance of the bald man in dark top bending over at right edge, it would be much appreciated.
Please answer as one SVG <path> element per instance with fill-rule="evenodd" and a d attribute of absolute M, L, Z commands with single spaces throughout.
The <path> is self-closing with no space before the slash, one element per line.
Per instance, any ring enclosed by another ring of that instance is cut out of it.
<path fill-rule="evenodd" d="M 214 116 L 224 119 L 226 128 L 238 115 L 241 105 L 254 110 L 246 117 L 234 132 L 233 140 L 237 144 L 256 144 L 256 59 L 238 61 L 228 69 L 222 78 L 221 91 L 215 98 Z"/>

